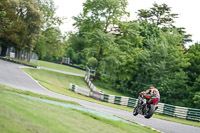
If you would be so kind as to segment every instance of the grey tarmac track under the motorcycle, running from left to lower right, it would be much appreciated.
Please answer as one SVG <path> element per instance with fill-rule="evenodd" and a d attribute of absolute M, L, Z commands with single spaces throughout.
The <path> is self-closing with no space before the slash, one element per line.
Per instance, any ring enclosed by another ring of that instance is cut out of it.
<path fill-rule="evenodd" d="M 5 84 L 14 88 L 28 90 L 31 92 L 48 95 L 51 97 L 56 97 L 60 99 L 75 101 L 82 106 L 93 109 L 96 111 L 112 114 L 115 116 L 119 116 L 121 118 L 135 121 L 137 123 L 155 128 L 162 132 L 166 133 L 200 133 L 200 128 L 188 126 L 184 124 L 179 124 L 175 122 L 160 120 L 156 118 L 145 119 L 143 116 L 138 115 L 133 117 L 131 112 L 103 106 L 96 103 L 87 102 L 84 100 L 60 95 L 54 92 L 51 92 L 42 86 L 38 85 L 36 81 L 34 81 L 30 76 L 28 76 L 25 72 L 23 72 L 19 67 L 22 65 L 6 62 L 0 60 L 0 84 Z"/>

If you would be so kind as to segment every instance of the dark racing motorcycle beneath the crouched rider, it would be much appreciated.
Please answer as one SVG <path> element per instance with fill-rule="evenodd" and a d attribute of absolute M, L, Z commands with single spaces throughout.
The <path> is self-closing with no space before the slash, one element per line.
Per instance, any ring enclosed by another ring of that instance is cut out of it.
<path fill-rule="evenodd" d="M 133 115 L 136 116 L 138 114 L 144 115 L 145 118 L 149 119 L 152 117 L 157 103 L 152 103 L 149 99 L 146 99 L 143 95 L 140 95 L 138 98 L 138 103 L 135 109 L 133 110 Z"/>

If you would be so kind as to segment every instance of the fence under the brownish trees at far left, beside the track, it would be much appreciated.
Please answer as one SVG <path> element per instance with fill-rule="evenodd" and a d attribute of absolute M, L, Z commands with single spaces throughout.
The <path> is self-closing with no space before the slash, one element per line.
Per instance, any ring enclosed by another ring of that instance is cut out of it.
<path fill-rule="evenodd" d="M 38 56 L 34 52 L 27 50 L 16 50 L 13 47 L 7 49 L 6 56 L 16 58 L 32 64 L 37 64 Z"/>

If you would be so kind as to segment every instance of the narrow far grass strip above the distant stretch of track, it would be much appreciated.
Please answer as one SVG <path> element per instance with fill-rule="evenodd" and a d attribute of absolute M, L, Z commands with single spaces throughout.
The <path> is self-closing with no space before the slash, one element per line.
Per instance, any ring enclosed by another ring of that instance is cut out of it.
<path fill-rule="evenodd" d="M 67 72 L 72 72 L 72 73 L 77 73 L 77 74 L 85 74 L 86 73 L 83 70 L 69 67 L 67 65 L 55 64 L 55 63 L 50 63 L 50 62 L 41 61 L 41 60 L 38 60 L 37 63 L 39 66 L 43 66 L 43 67 L 47 67 L 47 68 L 51 68 L 51 69 L 57 69 L 57 70 L 67 71 Z"/>

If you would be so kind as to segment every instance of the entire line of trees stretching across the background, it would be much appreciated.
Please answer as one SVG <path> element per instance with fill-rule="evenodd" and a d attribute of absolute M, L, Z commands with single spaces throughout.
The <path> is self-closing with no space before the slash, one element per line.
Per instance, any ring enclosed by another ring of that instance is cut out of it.
<path fill-rule="evenodd" d="M 161 102 L 200 108 L 200 44 L 184 47 L 191 35 L 174 26 L 178 14 L 168 5 L 155 3 L 139 10 L 137 20 L 126 21 L 127 5 L 127 0 L 86 0 L 73 17 L 77 32 L 66 37 L 53 0 L 1 0 L 1 55 L 12 46 L 43 60 L 67 56 L 94 69 L 94 81 L 117 91 L 137 97 L 155 86 Z"/>

